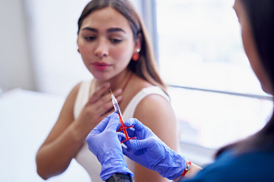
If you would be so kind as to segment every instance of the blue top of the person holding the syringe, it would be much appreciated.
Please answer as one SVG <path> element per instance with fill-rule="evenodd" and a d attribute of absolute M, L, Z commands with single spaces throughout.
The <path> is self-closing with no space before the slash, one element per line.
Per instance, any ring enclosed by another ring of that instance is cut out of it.
<path fill-rule="evenodd" d="M 237 156 L 227 151 L 186 181 L 273 181 L 273 165 L 273 153 L 254 152 Z"/>

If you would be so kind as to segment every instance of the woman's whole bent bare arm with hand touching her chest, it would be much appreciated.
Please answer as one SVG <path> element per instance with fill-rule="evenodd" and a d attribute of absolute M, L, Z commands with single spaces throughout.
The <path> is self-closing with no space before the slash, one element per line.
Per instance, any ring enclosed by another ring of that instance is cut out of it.
<path fill-rule="evenodd" d="M 107 85 L 92 95 L 79 117 L 74 120 L 73 107 L 79 86 L 80 84 L 76 85 L 67 96 L 58 120 L 37 153 L 37 172 L 44 179 L 65 171 L 83 145 L 89 131 L 112 112 L 111 97 L 102 95 L 109 88 Z M 120 94 L 115 94 L 117 100 L 121 101 Z"/>

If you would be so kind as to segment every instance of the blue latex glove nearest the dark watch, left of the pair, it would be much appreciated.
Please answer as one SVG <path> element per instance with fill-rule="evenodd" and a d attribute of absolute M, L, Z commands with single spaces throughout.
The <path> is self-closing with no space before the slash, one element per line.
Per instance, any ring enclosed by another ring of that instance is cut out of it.
<path fill-rule="evenodd" d="M 103 119 L 88 134 L 88 149 L 102 165 L 100 177 L 107 180 L 114 173 L 133 173 L 127 168 L 116 130 L 119 129 L 119 116 L 112 113 Z"/>

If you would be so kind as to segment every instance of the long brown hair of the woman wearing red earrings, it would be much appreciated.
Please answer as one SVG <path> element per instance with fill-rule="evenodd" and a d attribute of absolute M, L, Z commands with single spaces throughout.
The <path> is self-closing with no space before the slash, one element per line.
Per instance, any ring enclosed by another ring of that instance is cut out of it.
<path fill-rule="evenodd" d="M 138 39 L 139 34 L 142 35 L 142 46 L 139 53 L 140 58 L 138 61 L 133 61 L 131 59 L 127 66 L 128 69 L 141 78 L 149 81 L 153 85 L 160 86 L 166 93 L 166 85 L 163 83 L 158 73 L 156 60 L 147 30 L 140 16 L 128 0 L 92 0 L 86 5 L 78 20 L 78 33 L 80 31 L 83 20 L 90 13 L 92 13 L 94 10 L 107 7 L 114 8 L 128 20 L 135 41 Z"/>

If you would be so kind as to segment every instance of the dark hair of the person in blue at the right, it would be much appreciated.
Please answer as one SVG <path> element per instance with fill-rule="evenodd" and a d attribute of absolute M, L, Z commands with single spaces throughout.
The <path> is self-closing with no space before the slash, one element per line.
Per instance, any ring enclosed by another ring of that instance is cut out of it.
<path fill-rule="evenodd" d="M 274 87 L 274 1 L 240 0 L 244 6 L 252 29 L 260 61 Z M 273 90 L 273 89 L 271 89 Z M 237 154 L 248 151 L 274 152 L 274 116 L 257 133 L 246 140 L 221 148 L 216 156 L 233 148 Z"/>

